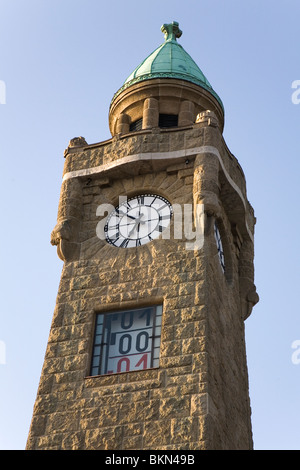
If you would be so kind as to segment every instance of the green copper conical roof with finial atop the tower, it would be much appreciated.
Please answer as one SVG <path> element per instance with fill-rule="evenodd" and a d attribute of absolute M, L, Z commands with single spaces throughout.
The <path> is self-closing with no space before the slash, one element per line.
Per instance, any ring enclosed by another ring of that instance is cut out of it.
<path fill-rule="evenodd" d="M 164 24 L 161 31 L 165 35 L 165 42 L 129 75 L 123 86 L 114 95 L 113 100 L 123 90 L 135 83 L 154 78 L 175 78 L 195 83 L 209 91 L 223 108 L 220 97 L 213 90 L 203 72 L 183 47 L 178 44 L 176 39 L 182 35 L 178 23 L 173 21 L 170 24 Z"/>

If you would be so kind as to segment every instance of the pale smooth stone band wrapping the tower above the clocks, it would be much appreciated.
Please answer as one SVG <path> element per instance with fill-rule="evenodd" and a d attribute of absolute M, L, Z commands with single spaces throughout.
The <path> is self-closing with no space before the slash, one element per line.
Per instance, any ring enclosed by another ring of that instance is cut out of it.
<path fill-rule="evenodd" d="M 138 162 L 141 162 L 141 163 L 149 162 L 149 163 L 155 164 L 155 162 L 159 163 L 162 161 L 174 161 L 174 160 L 180 161 L 180 160 L 187 159 L 188 157 L 200 155 L 203 153 L 205 154 L 211 153 L 215 155 L 216 157 L 218 157 L 223 174 L 225 178 L 227 179 L 228 183 L 230 184 L 230 186 L 238 194 L 239 199 L 241 200 L 243 204 L 245 214 L 246 214 L 247 204 L 240 188 L 228 174 L 218 149 L 210 145 L 203 145 L 201 147 L 193 147 L 190 149 L 175 150 L 175 151 L 170 151 L 170 152 L 137 153 L 133 155 L 128 155 L 127 157 L 123 157 L 113 162 L 106 163 L 100 166 L 96 166 L 92 168 L 85 168 L 82 170 L 75 170 L 75 171 L 70 171 L 68 173 L 65 173 L 63 177 L 63 182 L 71 178 L 88 177 L 88 176 L 95 176 L 95 175 L 107 176 L 107 173 L 110 173 L 111 171 L 115 172 L 117 169 L 122 170 L 122 168 L 125 169 L 125 167 L 131 166 L 133 164 L 136 165 Z M 246 226 L 247 233 L 251 241 L 254 242 L 253 234 L 251 230 L 249 229 L 246 218 L 245 218 L 245 226 Z"/>

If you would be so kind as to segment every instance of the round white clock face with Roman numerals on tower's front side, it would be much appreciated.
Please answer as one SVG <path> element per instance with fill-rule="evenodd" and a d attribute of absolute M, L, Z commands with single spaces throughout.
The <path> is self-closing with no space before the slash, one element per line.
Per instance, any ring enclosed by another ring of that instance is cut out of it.
<path fill-rule="evenodd" d="M 168 227 L 172 206 L 155 194 L 140 194 L 127 199 L 108 216 L 104 232 L 106 241 L 119 248 L 144 245 Z"/>

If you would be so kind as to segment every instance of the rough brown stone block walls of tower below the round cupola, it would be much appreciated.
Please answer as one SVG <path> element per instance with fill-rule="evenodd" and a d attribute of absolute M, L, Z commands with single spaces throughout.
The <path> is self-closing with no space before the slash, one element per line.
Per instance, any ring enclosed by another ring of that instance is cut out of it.
<path fill-rule="evenodd" d="M 203 119 L 94 145 L 77 139 L 65 158 L 51 236 L 64 267 L 27 449 L 252 448 L 244 319 L 255 287 L 255 220 L 219 129 Z M 204 204 L 200 250 L 174 238 L 174 220 L 169 239 L 138 248 L 97 236 L 99 205 L 148 192 L 172 204 Z M 158 304 L 159 367 L 91 376 L 96 314 Z"/>

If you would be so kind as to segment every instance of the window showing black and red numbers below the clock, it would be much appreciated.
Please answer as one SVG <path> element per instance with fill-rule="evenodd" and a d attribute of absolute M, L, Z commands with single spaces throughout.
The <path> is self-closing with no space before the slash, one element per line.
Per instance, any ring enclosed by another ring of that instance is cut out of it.
<path fill-rule="evenodd" d="M 97 314 L 91 375 L 159 366 L 162 306 Z"/>

